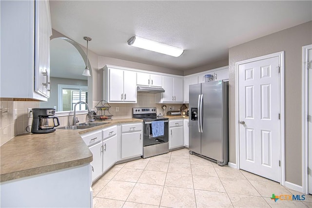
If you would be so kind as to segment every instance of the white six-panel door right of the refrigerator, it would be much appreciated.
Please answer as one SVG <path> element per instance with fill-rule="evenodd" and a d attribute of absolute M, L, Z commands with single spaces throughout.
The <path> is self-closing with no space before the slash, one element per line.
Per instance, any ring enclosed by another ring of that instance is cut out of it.
<path fill-rule="evenodd" d="M 279 58 L 239 65 L 240 168 L 280 181 Z"/>

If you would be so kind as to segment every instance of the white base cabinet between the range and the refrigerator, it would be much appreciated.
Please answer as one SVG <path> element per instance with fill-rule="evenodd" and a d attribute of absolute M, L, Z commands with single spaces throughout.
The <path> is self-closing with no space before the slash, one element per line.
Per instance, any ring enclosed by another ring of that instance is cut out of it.
<path fill-rule="evenodd" d="M 169 149 L 183 147 L 183 120 L 169 121 Z"/>

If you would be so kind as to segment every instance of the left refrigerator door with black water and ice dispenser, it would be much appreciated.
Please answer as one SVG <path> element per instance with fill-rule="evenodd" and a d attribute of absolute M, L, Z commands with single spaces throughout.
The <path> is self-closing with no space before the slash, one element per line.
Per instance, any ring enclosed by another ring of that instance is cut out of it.
<path fill-rule="evenodd" d="M 192 116 L 189 118 L 189 150 L 201 154 L 201 133 L 199 124 L 199 109 L 198 109 L 198 97 L 201 95 L 201 84 L 190 85 L 190 102 L 189 109 L 193 109 L 193 113 L 196 112 L 195 120 L 192 120 Z"/>

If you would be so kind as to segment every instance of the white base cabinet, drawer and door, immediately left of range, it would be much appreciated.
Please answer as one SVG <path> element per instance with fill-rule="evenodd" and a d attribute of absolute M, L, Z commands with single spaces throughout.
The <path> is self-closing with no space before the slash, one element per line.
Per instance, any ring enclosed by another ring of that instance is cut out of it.
<path fill-rule="evenodd" d="M 121 159 L 141 156 L 143 153 L 142 123 L 121 125 Z"/>

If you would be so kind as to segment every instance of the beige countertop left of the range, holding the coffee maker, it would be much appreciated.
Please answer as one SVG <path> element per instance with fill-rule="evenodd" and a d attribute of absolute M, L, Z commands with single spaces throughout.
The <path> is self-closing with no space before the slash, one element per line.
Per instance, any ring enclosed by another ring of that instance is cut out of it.
<path fill-rule="evenodd" d="M 0 182 L 61 170 L 92 162 L 93 156 L 80 134 L 120 123 L 142 122 L 125 118 L 85 130 L 57 129 L 52 133 L 26 133 L 0 147 Z"/>

